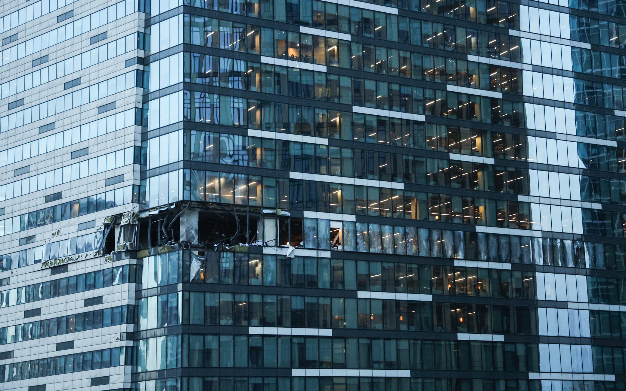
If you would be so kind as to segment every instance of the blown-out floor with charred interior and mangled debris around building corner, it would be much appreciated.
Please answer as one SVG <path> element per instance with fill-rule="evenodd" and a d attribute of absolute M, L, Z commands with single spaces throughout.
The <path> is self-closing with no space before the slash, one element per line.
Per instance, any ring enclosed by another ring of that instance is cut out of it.
<path fill-rule="evenodd" d="M 105 255 L 174 244 L 207 250 L 234 245 L 298 248 L 305 240 L 319 243 L 321 249 L 341 246 L 341 225 L 305 227 L 305 219 L 281 209 L 179 202 L 131 213 L 105 222 Z"/>

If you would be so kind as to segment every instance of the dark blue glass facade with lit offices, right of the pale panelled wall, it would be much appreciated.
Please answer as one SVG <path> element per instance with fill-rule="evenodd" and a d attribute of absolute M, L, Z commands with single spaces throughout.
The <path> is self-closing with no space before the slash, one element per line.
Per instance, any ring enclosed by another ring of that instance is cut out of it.
<path fill-rule="evenodd" d="M 155 3 L 135 389 L 624 389 L 626 4 Z"/>

